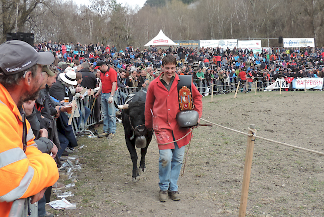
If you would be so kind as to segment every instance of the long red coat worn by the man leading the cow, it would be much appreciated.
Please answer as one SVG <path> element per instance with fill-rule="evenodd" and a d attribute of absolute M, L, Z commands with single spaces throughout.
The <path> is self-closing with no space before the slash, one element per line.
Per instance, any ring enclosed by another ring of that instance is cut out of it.
<path fill-rule="evenodd" d="M 163 75 L 163 73 L 161 75 Z M 145 126 L 148 129 L 153 128 L 153 125 L 159 126 L 159 131 L 156 130 L 155 134 L 158 143 L 164 144 L 173 141 L 172 133 L 175 140 L 177 140 L 185 136 L 190 130 L 181 128 L 175 119 L 176 114 L 180 112 L 177 89 L 179 76 L 175 73 L 175 78 L 170 91 L 167 91 L 160 80 L 161 75 L 157 79 L 151 81 L 149 85 L 145 103 Z M 191 83 L 191 89 L 192 101 L 194 102 L 195 107 L 194 110 L 198 112 L 200 118 L 202 115 L 202 96 L 193 83 Z M 151 109 L 156 117 L 154 121 Z M 191 133 L 177 141 L 176 143 L 178 147 L 180 148 L 187 145 L 190 138 Z M 159 150 L 163 149 L 174 149 L 174 143 L 159 145 Z"/>

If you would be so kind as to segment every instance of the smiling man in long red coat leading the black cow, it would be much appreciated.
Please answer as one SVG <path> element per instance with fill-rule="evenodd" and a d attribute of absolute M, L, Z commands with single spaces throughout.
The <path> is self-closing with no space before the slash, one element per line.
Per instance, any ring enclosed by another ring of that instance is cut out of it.
<path fill-rule="evenodd" d="M 177 181 L 182 166 L 184 146 L 191 139 L 190 129 L 180 127 L 176 121 L 176 114 L 180 109 L 177 89 L 179 76 L 175 73 L 175 64 L 174 56 L 163 57 L 162 73 L 150 83 L 145 103 L 145 126 L 154 129 L 159 145 L 161 190 L 159 197 L 162 202 L 168 199 L 168 195 L 174 201 L 180 200 Z M 200 120 L 202 96 L 192 83 L 191 89 L 194 110 L 198 112 Z"/>

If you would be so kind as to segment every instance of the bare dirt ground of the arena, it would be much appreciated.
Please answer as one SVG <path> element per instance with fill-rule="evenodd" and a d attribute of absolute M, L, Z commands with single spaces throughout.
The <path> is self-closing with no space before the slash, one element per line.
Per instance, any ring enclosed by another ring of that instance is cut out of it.
<path fill-rule="evenodd" d="M 259 136 L 324 152 L 323 102 L 322 91 L 258 92 L 235 99 L 227 94 L 212 102 L 208 96 L 202 118 L 242 132 L 255 124 Z M 70 190 L 75 196 L 67 198 L 77 208 L 49 211 L 60 217 L 237 217 L 246 144 L 247 136 L 216 126 L 194 129 L 185 174 L 178 181 L 181 201 L 162 203 L 155 140 L 148 148 L 147 172 L 133 183 L 118 124 L 114 140 L 79 140 L 79 147 L 85 145 L 76 153 L 83 169 Z M 256 139 L 246 216 L 323 217 L 323 162 L 324 156 Z M 60 182 L 69 184 L 64 173 Z"/>

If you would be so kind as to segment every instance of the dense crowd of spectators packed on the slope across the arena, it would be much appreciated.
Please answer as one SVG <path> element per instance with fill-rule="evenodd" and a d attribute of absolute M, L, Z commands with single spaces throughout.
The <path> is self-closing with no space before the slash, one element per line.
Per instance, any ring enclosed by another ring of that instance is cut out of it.
<path fill-rule="evenodd" d="M 60 70 L 64 70 L 64 63 L 67 63 L 76 71 L 77 65 L 82 62 L 88 62 L 89 68 L 94 69 L 98 60 L 103 60 L 117 70 L 119 88 L 147 88 L 150 81 L 159 76 L 162 58 L 169 53 L 177 58 L 177 73 L 192 75 L 194 84 L 202 94 L 207 91 L 210 94 L 210 84 L 215 85 L 214 94 L 230 92 L 228 85 L 233 83 L 233 78 L 241 81 L 241 92 L 248 92 L 255 80 L 259 82 L 258 89 L 261 89 L 273 81 L 271 78 L 323 77 L 324 47 L 271 48 L 262 49 L 261 53 L 236 47 L 170 46 L 161 49 L 150 46 L 134 50 L 133 46 L 127 46 L 117 50 L 114 45 L 104 46 L 99 42 L 82 45 L 79 42 L 45 41 L 34 45 L 34 48 L 39 52 L 53 52 L 54 64 Z M 244 89 L 244 86 L 248 88 Z"/>

